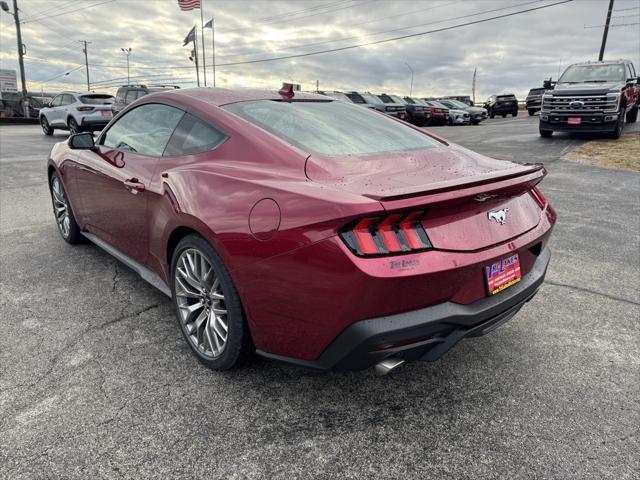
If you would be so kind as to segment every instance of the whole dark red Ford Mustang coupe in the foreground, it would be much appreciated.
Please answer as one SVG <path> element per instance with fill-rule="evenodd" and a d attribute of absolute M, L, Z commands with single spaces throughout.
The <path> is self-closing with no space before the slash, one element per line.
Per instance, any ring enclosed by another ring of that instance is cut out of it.
<path fill-rule="evenodd" d="M 285 90 L 145 96 L 48 174 L 62 237 L 170 296 L 214 369 L 435 360 L 536 294 L 556 220 L 541 165 Z"/>

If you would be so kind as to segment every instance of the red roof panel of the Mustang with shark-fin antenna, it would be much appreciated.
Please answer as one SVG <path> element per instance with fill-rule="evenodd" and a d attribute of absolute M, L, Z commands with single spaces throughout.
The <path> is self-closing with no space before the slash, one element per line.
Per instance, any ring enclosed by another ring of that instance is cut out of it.
<path fill-rule="evenodd" d="M 227 88 L 185 88 L 180 90 L 167 90 L 155 93 L 154 95 L 164 96 L 185 96 L 191 97 L 201 102 L 209 103 L 215 106 L 228 105 L 230 103 L 250 102 L 256 100 L 282 100 L 283 97 L 277 90 L 255 90 L 255 89 L 238 89 L 231 90 Z M 333 101 L 331 97 L 316 93 L 294 92 L 295 100 L 320 100 Z"/>

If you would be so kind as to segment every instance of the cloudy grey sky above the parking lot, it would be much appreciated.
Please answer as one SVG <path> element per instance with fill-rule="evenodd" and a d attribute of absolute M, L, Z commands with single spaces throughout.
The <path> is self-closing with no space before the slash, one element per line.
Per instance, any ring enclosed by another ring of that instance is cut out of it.
<path fill-rule="evenodd" d="M 477 22 L 559 0 L 202 0 L 215 18 L 216 85 L 305 90 L 365 90 L 440 96 L 526 95 L 566 65 L 598 56 L 608 0 L 574 0 L 520 15 L 376 45 L 276 61 L 243 63 Z M 9 2 L 10 6 L 12 2 Z M 92 89 L 126 83 L 122 47 L 131 47 L 132 83 L 195 86 L 190 47 L 182 40 L 200 12 L 177 0 L 18 0 L 30 90 L 86 89 L 86 40 Z M 640 70 L 640 0 L 616 0 L 606 58 L 628 58 Z M 0 12 L 1 68 L 17 69 L 13 17 Z M 212 83 L 212 36 L 205 30 Z M 66 75 L 68 73 L 68 75 Z"/>

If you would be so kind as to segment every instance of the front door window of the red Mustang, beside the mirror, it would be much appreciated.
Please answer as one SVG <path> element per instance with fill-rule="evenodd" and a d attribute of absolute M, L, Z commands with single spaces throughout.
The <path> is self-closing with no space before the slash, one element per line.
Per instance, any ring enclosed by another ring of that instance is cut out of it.
<path fill-rule="evenodd" d="M 109 148 L 160 157 L 183 115 L 182 110 L 168 105 L 141 105 L 115 122 L 100 143 Z"/>

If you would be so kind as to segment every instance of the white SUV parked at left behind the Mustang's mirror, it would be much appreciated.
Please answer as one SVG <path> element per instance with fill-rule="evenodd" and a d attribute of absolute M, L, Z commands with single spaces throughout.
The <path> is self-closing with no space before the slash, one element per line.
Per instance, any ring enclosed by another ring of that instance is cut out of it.
<path fill-rule="evenodd" d="M 55 129 L 70 134 L 102 130 L 111 120 L 112 95 L 103 93 L 63 92 L 40 109 L 40 125 L 45 135 Z"/>

